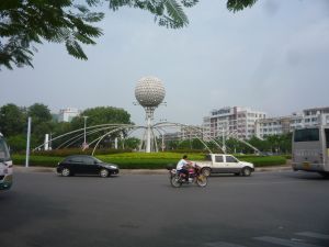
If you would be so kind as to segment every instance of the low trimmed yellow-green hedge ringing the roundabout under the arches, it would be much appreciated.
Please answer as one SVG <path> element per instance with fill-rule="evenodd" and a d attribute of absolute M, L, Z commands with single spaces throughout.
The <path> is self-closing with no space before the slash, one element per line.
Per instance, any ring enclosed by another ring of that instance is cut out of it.
<path fill-rule="evenodd" d="M 191 160 L 204 160 L 202 154 L 188 154 Z M 168 165 L 175 165 L 182 157 L 178 153 L 124 153 L 114 155 L 97 155 L 105 162 L 118 165 L 121 169 L 164 169 Z M 64 157 L 60 156 L 34 156 L 30 157 L 31 166 L 56 167 Z M 282 156 L 253 156 L 240 157 L 241 161 L 252 162 L 256 167 L 276 166 L 286 164 L 286 158 Z M 13 162 L 16 165 L 25 164 L 25 156 L 13 155 Z"/>

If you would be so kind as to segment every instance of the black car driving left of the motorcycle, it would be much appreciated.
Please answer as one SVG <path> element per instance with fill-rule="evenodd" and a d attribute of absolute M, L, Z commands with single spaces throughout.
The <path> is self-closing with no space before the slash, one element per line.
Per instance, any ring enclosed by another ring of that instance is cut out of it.
<path fill-rule="evenodd" d="M 106 178 L 110 175 L 117 175 L 118 167 L 113 164 L 103 162 L 89 155 L 72 155 L 58 164 L 57 172 L 68 177 L 73 175 L 99 175 Z"/>

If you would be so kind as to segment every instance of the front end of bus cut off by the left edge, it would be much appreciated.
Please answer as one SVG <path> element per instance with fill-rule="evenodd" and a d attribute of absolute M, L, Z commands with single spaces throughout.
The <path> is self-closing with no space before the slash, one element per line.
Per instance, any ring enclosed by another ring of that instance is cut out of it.
<path fill-rule="evenodd" d="M 12 186 L 12 160 L 9 149 L 0 133 L 0 190 L 9 190 Z"/>

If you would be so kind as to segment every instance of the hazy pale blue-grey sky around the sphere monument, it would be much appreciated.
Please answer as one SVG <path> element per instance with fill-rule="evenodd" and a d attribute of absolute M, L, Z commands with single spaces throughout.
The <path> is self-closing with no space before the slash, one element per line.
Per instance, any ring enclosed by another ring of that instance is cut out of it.
<path fill-rule="evenodd" d="M 329 106 L 329 1 L 259 0 L 232 13 L 226 1 L 186 9 L 188 27 L 169 30 L 140 10 L 105 10 L 104 35 L 83 47 L 89 59 L 44 43 L 34 68 L 0 71 L 0 106 L 44 103 L 59 109 L 116 106 L 143 124 L 134 105 L 144 76 L 158 77 L 167 105 L 155 122 L 202 124 L 223 106 L 249 106 L 268 116 Z"/>

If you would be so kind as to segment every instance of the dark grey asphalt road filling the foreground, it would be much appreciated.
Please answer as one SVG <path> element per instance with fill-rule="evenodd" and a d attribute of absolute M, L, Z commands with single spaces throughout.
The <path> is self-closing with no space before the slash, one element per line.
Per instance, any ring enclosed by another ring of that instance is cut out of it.
<path fill-rule="evenodd" d="M 316 173 L 217 176 L 179 189 L 166 175 L 14 179 L 0 193 L 3 247 L 329 246 L 329 180 Z"/>

